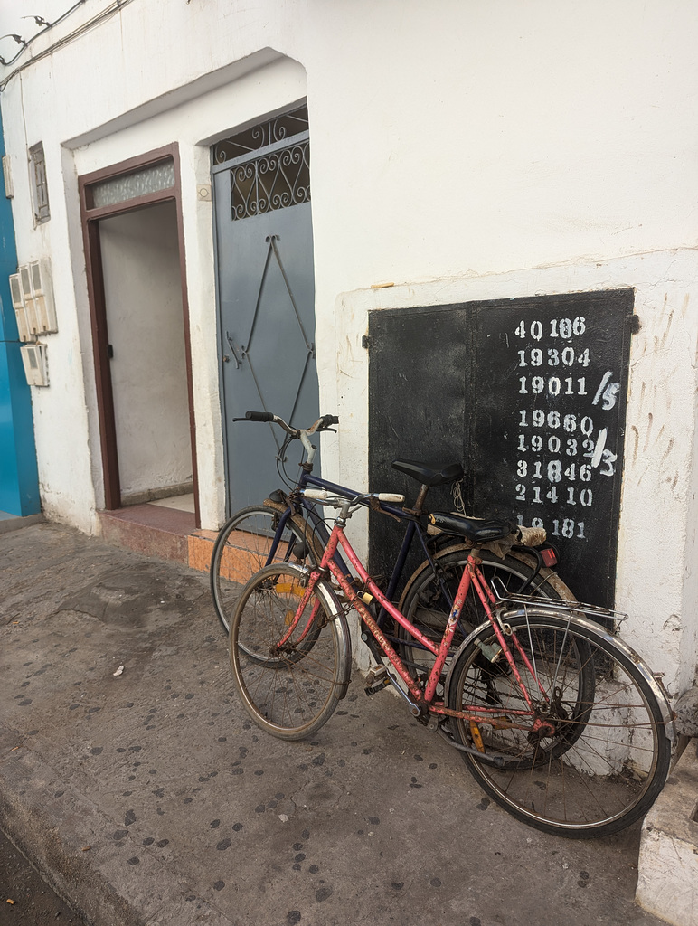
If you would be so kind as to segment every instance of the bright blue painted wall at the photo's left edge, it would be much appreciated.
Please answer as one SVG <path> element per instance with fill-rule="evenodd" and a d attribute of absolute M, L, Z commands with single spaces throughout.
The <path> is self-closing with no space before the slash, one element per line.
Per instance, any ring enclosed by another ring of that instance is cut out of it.
<path fill-rule="evenodd" d="M 4 154 L 0 117 L 0 156 Z M 0 172 L 0 511 L 25 517 L 38 514 L 41 502 L 31 390 L 19 353 L 17 322 L 7 279 L 16 272 L 12 209 Z"/>

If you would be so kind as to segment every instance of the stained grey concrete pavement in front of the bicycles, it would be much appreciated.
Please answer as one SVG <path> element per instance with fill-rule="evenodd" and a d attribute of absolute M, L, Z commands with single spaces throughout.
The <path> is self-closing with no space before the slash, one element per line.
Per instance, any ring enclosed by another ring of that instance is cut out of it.
<path fill-rule="evenodd" d="M 356 678 L 310 742 L 257 730 L 206 575 L 55 523 L 0 568 L 0 828 L 94 926 L 662 922 L 638 826 L 518 823 L 388 691 Z"/>

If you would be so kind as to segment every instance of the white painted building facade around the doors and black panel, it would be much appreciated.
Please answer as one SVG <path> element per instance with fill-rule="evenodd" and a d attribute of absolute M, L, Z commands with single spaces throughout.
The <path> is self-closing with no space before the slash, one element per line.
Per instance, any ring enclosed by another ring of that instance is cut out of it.
<path fill-rule="evenodd" d="M 58 318 L 45 338 L 50 385 L 32 389 L 47 515 L 94 532 L 105 506 L 78 178 L 178 146 L 198 501 L 215 529 L 225 478 L 210 149 L 306 100 L 320 407 L 342 420 L 324 471 L 368 479 L 369 310 L 634 288 L 617 607 L 670 692 L 690 687 L 696 42 L 692 0 L 88 0 L 42 31 L 2 69 L 0 105 L 19 262 L 50 261 Z M 51 218 L 35 225 L 27 152 L 39 142 Z M 162 248 L 138 269 L 123 264 L 139 251 L 129 219 L 111 219 L 103 242 L 106 286 L 131 307 L 145 294 L 143 310 L 176 257 L 168 219 L 153 220 L 146 237 Z M 162 329 L 181 318 L 175 290 Z M 146 336 L 126 324 L 123 343 Z M 170 353 L 159 339 L 143 363 L 158 352 Z M 163 382 L 157 417 L 181 417 L 178 389 Z M 131 420 L 134 445 L 148 427 Z M 163 448 L 156 457 L 176 456 Z M 149 465 L 134 460 L 134 472 Z M 190 477 L 185 462 L 167 478 Z"/>

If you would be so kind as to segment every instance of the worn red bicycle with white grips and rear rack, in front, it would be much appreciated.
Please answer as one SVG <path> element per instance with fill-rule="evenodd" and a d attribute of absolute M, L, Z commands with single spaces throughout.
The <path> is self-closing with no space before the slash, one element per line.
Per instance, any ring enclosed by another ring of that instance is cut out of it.
<path fill-rule="evenodd" d="M 346 614 L 354 608 L 376 661 L 368 694 L 393 685 L 412 716 L 458 749 L 487 794 L 517 819 L 583 837 L 617 832 L 644 816 L 667 780 L 673 723 L 653 673 L 596 620 L 615 621 L 615 613 L 500 596 L 480 569 L 480 547 L 519 529 L 436 513 L 432 523 L 458 535 L 470 552 L 445 630 L 434 641 L 382 594 L 344 533 L 360 505 L 402 504 L 403 496 L 305 494 L 339 509 L 319 566 L 260 569 L 231 619 L 232 672 L 244 707 L 263 730 L 296 740 L 330 718 L 349 684 Z M 359 582 L 337 566 L 338 546 Z M 468 595 L 477 596 L 486 620 L 454 654 Z M 405 665 L 381 631 L 380 607 L 397 635 L 424 655 L 419 669 Z"/>

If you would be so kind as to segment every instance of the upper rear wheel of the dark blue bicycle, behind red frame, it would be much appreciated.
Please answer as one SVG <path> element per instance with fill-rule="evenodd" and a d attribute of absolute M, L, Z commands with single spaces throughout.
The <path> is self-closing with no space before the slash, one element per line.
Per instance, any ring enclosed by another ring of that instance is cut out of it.
<path fill-rule="evenodd" d="M 451 595 L 451 601 L 455 597 L 455 591 L 463 570 L 466 568 L 470 552 L 470 548 L 465 544 L 455 544 L 445 547 L 434 557 L 437 569 L 442 573 L 442 581 L 445 582 Z M 565 582 L 552 569 L 543 567 L 536 574 L 534 569 L 536 560 L 530 554 L 513 550 L 502 558 L 495 556 L 489 550 L 481 550 L 480 559 L 482 560 L 480 569 L 485 579 L 492 585 L 495 594 L 502 591 L 516 593 L 535 575 L 526 594 L 557 601 L 577 600 Z M 438 645 L 441 642 L 451 606 L 444 598 L 441 584 L 428 560 L 425 560 L 407 580 L 398 607 L 405 618 L 409 619 L 434 644 Z M 480 598 L 474 590 L 470 591 L 455 631 L 451 647 L 452 654 L 464 642 L 467 634 L 474 631 L 486 619 L 487 615 Z M 414 638 L 397 623 L 395 636 L 398 640 L 400 657 L 412 677 L 417 678 L 419 674 L 428 674 L 433 665 L 430 652 L 415 644 Z M 446 669 L 447 667 L 448 663 Z"/>

